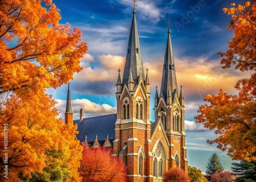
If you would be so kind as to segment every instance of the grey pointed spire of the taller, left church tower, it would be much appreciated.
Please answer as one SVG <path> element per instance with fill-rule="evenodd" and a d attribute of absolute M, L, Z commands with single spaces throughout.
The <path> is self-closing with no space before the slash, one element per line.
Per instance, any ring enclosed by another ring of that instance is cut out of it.
<path fill-rule="evenodd" d="M 134 5 L 133 20 L 132 20 L 132 25 L 130 30 L 129 42 L 127 46 L 127 54 L 126 54 L 126 60 L 125 60 L 125 65 L 123 70 L 122 85 L 128 82 L 130 69 L 132 69 L 133 80 L 136 84 L 138 84 L 140 71 L 141 71 L 141 79 L 145 80 L 143 63 L 141 59 L 139 35 L 138 35 L 136 16 L 135 16 L 136 14 L 135 6 L 137 5 L 135 5 L 135 2 L 133 5 Z"/>

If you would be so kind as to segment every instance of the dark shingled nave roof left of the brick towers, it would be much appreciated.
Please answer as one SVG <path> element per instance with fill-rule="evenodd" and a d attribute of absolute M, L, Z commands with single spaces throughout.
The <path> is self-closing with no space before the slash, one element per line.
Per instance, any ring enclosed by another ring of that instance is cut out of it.
<path fill-rule="evenodd" d="M 81 122 L 79 119 L 74 120 L 79 132 L 77 139 L 80 142 L 84 142 L 87 136 L 87 142 L 93 144 L 97 135 L 98 142 L 103 145 L 109 135 L 109 140 L 113 144 L 115 140 L 115 123 L 116 114 L 84 118 Z"/>

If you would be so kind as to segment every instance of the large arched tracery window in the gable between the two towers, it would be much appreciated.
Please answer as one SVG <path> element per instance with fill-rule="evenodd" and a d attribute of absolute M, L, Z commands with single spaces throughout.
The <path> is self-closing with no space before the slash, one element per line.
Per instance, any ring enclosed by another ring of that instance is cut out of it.
<path fill-rule="evenodd" d="M 162 178 L 163 173 L 165 171 L 164 162 L 166 159 L 166 152 L 160 140 L 157 142 L 157 144 L 153 148 L 152 154 L 153 154 L 153 176 L 157 178 Z"/>

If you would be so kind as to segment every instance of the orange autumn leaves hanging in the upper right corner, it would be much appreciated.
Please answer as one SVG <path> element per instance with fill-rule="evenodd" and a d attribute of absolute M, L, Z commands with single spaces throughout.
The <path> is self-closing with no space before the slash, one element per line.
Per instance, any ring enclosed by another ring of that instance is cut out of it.
<path fill-rule="evenodd" d="M 244 6 L 238 5 L 237 8 L 223 8 L 225 13 L 232 16 L 227 28 L 234 31 L 234 37 L 228 42 L 229 49 L 226 53 L 218 53 L 224 57 L 221 60 L 223 68 L 235 66 L 241 71 L 256 70 L 256 2 L 251 8 L 249 6 L 250 2 L 246 2 Z"/>

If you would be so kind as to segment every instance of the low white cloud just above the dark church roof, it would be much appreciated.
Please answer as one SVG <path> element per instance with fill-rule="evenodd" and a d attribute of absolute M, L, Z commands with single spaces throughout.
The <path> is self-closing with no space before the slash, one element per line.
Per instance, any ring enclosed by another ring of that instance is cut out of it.
<path fill-rule="evenodd" d="M 66 100 L 55 99 L 58 103 L 56 108 L 60 112 L 60 117 L 63 119 L 66 111 Z M 98 104 L 88 99 L 74 99 L 71 100 L 72 112 L 74 113 L 73 118 L 79 119 L 79 111 L 83 109 L 84 117 L 100 116 L 105 114 L 116 113 L 116 107 L 112 107 L 108 104 Z"/>

